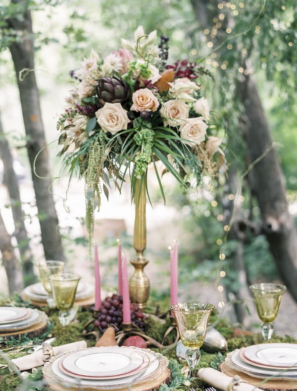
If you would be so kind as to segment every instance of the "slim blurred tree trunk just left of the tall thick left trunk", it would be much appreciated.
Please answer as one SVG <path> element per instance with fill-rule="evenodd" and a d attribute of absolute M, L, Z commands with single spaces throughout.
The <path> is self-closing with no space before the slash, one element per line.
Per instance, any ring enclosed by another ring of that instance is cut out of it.
<path fill-rule="evenodd" d="M 29 246 L 29 238 L 24 224 L 22 203 L 20 198 L 19 186 L 13 169 L 13 158 L 10 153 L 8 142 L 5 138 L 2 122 L 0 118 L 0 156 L 3 162 L 3 182 L 7 187 L 10 206 L 14 222 L 14 232 L 18 249 L 21 256 L 21 265 L 23 272 L 24 285 L 30 285 L 35 282 L 33 271 L 33 256 Z"/>

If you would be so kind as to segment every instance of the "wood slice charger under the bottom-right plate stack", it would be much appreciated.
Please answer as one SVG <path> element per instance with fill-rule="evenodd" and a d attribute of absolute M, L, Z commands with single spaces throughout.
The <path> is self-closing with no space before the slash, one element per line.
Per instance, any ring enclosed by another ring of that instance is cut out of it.
<path fill-rule="evenodd" d="M 232 369 L 226 365 L 225 362 L 223 362 L 220 365 L 220 370 L 223 374 L 227 376 L 234 377 L 235 375 L 238 375 L 242 378 L 242 380 L 245 380 L 248 384 L 251 384 L 252 386 L 257 386 L 260 389 L 266 390 L 266 391 L 296 391 L 297 390 L 297 381 L 296 380 L 268 380 L 264 384 L 259 385 L 263 381 L 263 379 L 253 378 L 251 376 L 248 376 L 247 374 L 243 372 L 236 371 L 235 369 Z"/>

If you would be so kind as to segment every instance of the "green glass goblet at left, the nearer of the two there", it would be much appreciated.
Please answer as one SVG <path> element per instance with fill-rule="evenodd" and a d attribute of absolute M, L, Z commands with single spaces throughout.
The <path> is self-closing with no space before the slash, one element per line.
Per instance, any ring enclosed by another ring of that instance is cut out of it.
<path fill-rule="evenodd" d="M 69 325 L 73 319 L 72 307 L 79 280 L 80 277 L 73 273 L 61 273 L 49 276 L 53 299 L 59 310 L 58 318 L 62 326 Z"/>

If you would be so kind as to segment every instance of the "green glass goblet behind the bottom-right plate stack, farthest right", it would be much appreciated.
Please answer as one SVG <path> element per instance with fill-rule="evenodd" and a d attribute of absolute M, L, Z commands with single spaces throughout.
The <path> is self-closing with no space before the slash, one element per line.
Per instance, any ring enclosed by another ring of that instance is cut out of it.
<path fill-rule="evenodd" d="M 265 283 L 250 285 L 253 293 L 258 317 L 262 321 L 261 332 L 264 340 L 271 338 L 274 326 L 273 321 L 278 315 L 285 285 Z"/>

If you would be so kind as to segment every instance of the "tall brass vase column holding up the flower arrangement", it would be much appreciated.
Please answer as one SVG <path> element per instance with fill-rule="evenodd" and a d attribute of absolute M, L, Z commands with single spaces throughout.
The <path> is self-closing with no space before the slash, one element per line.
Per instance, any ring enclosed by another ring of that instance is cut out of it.
<path fill-rule="evenodd" d="M 131 303 L 137 304 L 141 309 L 145 309 L 149 297 L 149 279 L 144 272 L 148 260 L 143 253 L 147 245 L 147 226 L 146 226 L 146 186 L 142 183 L 140 189 L 140 179 L 137 179 L 135 187 L 135 223 L 133 247 L 136 251 L 136 257 L 130 261 L 135 271 L 129 280 L 129 291 Z"/>

